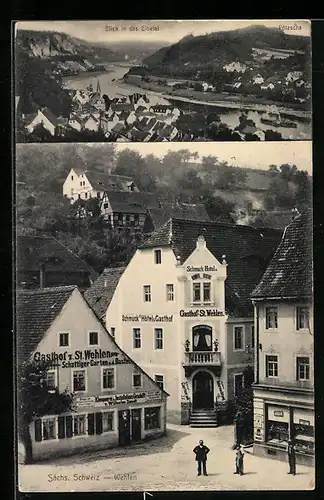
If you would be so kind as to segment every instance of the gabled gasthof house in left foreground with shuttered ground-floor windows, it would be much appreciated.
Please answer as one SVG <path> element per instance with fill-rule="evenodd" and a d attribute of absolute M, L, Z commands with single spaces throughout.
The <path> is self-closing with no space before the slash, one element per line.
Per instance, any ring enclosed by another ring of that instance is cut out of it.
<path fill-rule="evenodd" d="M 75 321 L 78 318 L 78 321 Z M 35 417 L 35 461 L 130 446 L 166 434 L 167 393 L 116 344 L 76 287 L 17 294 L 19 363 L 49 360 L 49 390 L 71 411 Z"/>

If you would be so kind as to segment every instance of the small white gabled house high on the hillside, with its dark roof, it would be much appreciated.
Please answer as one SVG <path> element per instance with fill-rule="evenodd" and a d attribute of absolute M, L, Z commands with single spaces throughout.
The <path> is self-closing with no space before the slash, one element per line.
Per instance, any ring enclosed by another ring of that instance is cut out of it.
<path fill-rule="evenodd" d="M 102 199 L 105 191 L 138 191 L 131 177 L 73 167 L 63 184 L 63 196 L 71 200 Z"/>

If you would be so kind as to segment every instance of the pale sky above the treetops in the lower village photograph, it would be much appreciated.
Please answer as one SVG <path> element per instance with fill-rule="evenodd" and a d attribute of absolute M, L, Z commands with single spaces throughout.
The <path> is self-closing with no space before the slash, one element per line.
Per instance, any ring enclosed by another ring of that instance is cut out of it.
<path fill-rule="evenodd" d="M 280 142 L 155 142 L 155 143 L 114 143 L 116 150 L 133 149 L 142 155 L 154 154 L 163 157 L 169 150 L 187 149 L 200 156 L 217 156 L 230 165 L 243 168 L 268 170 L 269 165 L 290 163 L 298 170 L 307 170 L 312 175 L 311 141 Z M 89 145 L 91 147 L 91 145 Z M 103 146 L 104 147 L 104 146 Z M 195 160 L 197 161 L 197 160 Z M 198 159 L 199 161 L 199 159 Z"/>

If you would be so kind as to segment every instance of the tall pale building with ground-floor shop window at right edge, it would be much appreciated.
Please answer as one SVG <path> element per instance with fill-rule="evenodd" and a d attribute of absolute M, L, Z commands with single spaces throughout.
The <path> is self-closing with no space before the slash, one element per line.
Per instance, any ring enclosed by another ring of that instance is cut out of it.
<path fill-rule="evenodd" d="M 287 459 L 289 439 L 297 460 L 314 460 L 312 320 L 312 215 L 287 226 L 253 291 L 256 332 L 254 451 Z"/>

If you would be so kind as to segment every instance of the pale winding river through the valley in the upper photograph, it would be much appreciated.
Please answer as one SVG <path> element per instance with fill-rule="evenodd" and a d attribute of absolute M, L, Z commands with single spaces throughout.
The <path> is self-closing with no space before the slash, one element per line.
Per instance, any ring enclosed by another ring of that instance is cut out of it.
<path fill-rule="evenodd" d="M 123 76 L 128 72 L 131 66 L 125 65 L 125 63 L 114 63 L 107 64 L 106 72 L 102 73 L 87 73 L 80 74 L 78 76 L 69 76 L 64 78 L 64 84 L 66 88 L 70 89 L 86 89 L 86 87 L 92 83 L 93 88 L 96 89 L 97 82 L 100 83 L 101 92 L 107 94 L 110 98 L 120 97 L 123 95 L 134 94 L 136 92 L 146 93 L 150 96 L 150 102 L 154 104 L 168 104 L 169 101 L 163 97 L 162 93 L 150 91 L 147 89 L 141 89 L 136 85 L 130 85 L 123 82 Z M 193 101 L 186 98 L 181 98 L 177 96 L 172 96 L 172 99 L 192 102 L 193 104 L 198 104 L 199 101 Z M 202 104 L 202 103 L 199 103 Z M 235 128 L 239 125 L 239 116 L 241 115 L 241 110 L 233 108 L 231 103 L 208 103 L 214 111 L 220 116 L 223 123 L 231 128 Z M 259 104 L 260 106 L 260 104 Z M 181 106 L 179 106 L 181 107 Z M 242 108 L 252 108 L 253 104 L 242 105 Z M 290 110 L 291 112 L 291 110 Z M 271 129 L 276 132 L 280 132 L 283 139 L 294 139 L 294 140 L 310 140 L 311 139 L 311 123 L 299 121 L 298 117 L 289 118 L 297 124 L 297 128 L 286 128 L 286 127 L 271 127 L 270 125 L 265 125 L 261 123 L 260 119 L 264 112 L 262 111 L 247 111 L 247 116 L 249 119 L 253 120 L 256 126 L 260 130 Z M 298 114 L 298 113 L 297 113 Z"/>

